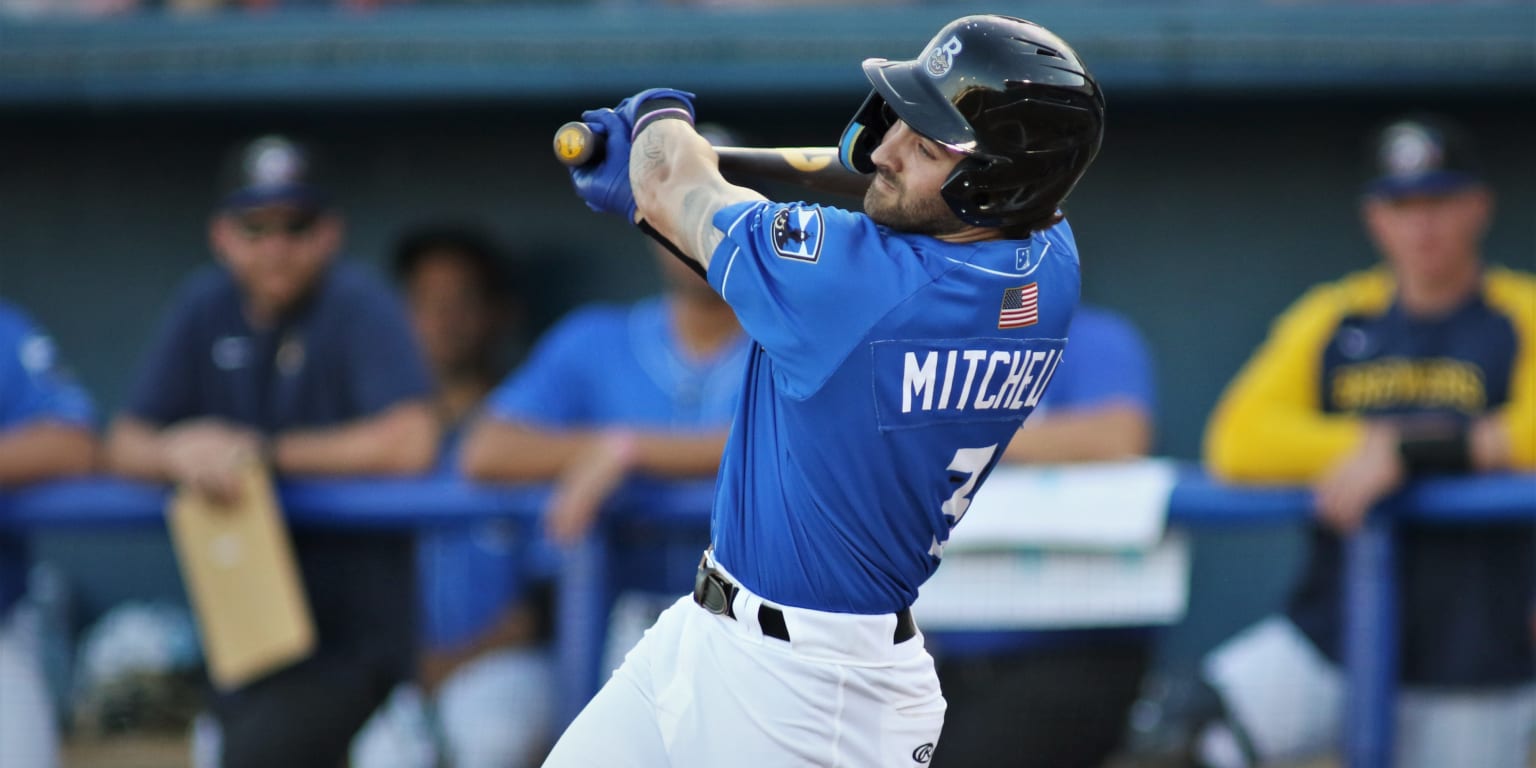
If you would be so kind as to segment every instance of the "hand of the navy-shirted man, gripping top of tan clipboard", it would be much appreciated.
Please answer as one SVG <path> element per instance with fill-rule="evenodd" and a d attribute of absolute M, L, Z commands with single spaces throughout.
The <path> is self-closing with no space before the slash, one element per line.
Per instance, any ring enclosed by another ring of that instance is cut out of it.
<path fill-rule="evenodd" d="M 240 470 L 260 461 L 261 436 L 220 419 L 195 419 L 161 436 L 170 479 L 218 504 L 240 501 Z"/>

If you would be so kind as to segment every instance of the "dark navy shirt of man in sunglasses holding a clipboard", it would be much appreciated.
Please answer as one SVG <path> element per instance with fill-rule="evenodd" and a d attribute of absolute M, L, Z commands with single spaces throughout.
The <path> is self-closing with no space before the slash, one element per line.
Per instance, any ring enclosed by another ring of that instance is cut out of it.
<path fill-rule="evenodd" d="M 272 435 L 335 427 L 429 396 L 404 309 L 373 275 L 335 263 L 273 327 L 257 329 L 230 273 L 207 267 L 177 295 L 126 410 L 157 425 L 217 416 Z M 410 539 L 300 528 L 293 548 L 321 653 L 366 645 L 409 671 Z"/>

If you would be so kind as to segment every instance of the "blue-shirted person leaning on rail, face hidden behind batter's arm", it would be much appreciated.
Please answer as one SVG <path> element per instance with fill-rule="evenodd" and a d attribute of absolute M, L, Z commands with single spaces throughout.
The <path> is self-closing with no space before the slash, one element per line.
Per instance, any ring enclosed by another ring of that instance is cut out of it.
<path fill-rule="evenodd" d="M 713 478 L 725 450 L 746 336 L 703 278 L 659 246 L 653 250 L 667 293 L 565 316 L 492 395 L 464 445 L 472 478 L 554 481 L 545 531 L 556 542 L 585 535 L 630 475 Z M 614 613 L 633 613 L 633 621 L 616 624 L 650 627 L 676 601 L 631 598 Z M 610 648 L 628 650 L 637 639 L 619 627 Z"/>

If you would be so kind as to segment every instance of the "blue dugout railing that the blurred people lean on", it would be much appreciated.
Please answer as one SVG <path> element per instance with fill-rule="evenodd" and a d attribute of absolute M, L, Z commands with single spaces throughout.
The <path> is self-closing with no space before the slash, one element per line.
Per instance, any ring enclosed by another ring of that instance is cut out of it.
<path fill-rule="evenodd" d="M 432 528 L 511 519 L 533 525 L 548 492 L 531 485 L 476 485 L 458 479 L 303 481 L 280 487 L 293 525 Z M 644 484 L 624 488 L 607 510 L 608 525 L 565 551 L 559 576 L 556 664 L 564 717 L 573 717 L 601 684 L 601 648 L 611 591 L 610 565 L 625 528 L 647 527 L 702 541 L 710 484 Z M 158 525 L 166 490 L 94 478 L 0 495 L 0 567 L 25 564 L 14 554 L 29 531 Z M 1233 487 L 1184 468 L 1169 499 L 1169 522 L 1187 527 L 1275 525 L 1310 516 L 1303 488 Z M 1536 521 L 1536 475 L 1422 481 L 1382 504 L 1349 544 L 1346 567 L 1346 667 L 1350 768 L 1392 763 L 1396 693 L 1396 588 L 1392 579 L 1393 527 L 1399 519 L 1442 524 Z M 679 573 L 694 561 L 680 554 Z M 0 574 L 5 581 L 5 574 Z"/>

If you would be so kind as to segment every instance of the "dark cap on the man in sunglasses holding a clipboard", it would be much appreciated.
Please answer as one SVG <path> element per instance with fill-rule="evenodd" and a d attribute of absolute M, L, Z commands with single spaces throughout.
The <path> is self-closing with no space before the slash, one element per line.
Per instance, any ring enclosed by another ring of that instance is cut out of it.
<path fill-rule="evenodd" d="M 240 146 L 224 161 L 220 177 L 224 210 L 287 204 L 309 210 L 329 203 L 318 180 L 315 155 L 281 135 L 264 135 Z"/>

